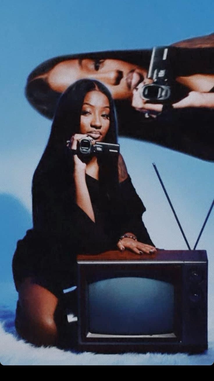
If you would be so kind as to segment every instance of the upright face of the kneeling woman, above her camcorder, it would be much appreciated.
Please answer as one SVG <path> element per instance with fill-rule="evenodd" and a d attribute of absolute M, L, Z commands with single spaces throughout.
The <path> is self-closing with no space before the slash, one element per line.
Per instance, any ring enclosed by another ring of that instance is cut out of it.
<path fill-rule="evenodd" d="M 93 90 L 86 94 L 80 117 L 80 133 L 103 141 L 109 129 L 109 100 L 101 91 Z"/>

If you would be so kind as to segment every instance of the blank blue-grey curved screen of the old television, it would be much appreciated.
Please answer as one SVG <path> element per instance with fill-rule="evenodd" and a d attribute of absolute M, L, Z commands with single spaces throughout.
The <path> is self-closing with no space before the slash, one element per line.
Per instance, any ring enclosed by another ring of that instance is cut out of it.
<path fill-rule="evenodd" d="M 145 277 L 89 283 L 89 331 L 104 335 L 173 332 L 174 285 Z"/>

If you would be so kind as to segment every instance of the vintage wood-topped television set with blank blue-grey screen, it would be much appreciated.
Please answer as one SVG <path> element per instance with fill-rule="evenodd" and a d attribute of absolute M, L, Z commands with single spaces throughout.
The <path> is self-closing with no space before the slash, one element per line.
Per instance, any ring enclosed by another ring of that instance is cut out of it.
<path fill-rule="evenodd" d="M 206 251 L 108 251 L 79 255 L 77 262 L 81 349 L 207 349 Z"/>

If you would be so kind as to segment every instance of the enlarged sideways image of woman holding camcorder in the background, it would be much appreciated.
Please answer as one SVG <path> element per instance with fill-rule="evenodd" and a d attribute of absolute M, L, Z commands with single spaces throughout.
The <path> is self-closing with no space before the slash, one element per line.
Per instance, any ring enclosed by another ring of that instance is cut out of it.
<path fill-rule="evenodd" d="M 167 48 L 176 95 L 168 102 L 171 107 L 142 96 L 143 86 L 153 82 L 147 78 L 152 50 L 103 51 L 48 59 L 30 73 L 27 99 L 41 114 L 52 118 L 60 94 L 68 86 L 81 78 L 99 80 L 116 101 L 120 135 L 213 160 L 214 35 Z M 159 62 L 156 66 L 158 70 Z"/>

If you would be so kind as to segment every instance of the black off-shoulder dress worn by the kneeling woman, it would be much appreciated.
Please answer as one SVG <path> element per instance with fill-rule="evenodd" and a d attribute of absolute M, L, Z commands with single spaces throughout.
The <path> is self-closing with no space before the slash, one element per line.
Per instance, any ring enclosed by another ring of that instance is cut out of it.
<path fill-rule="evenodd" d="M 77 254 L 117 250 L 116 243 L 126 232 L 154 246 L 142 221 L 146 208 L 129 176 L 119 184 L 114 208 L 103 199 L 98 180 L 86 175 L 86 183 L 95 223 L 66 192 L 55 195 L 57 202 L 43 198 L 34 228 L 17 242 L 13 257 L 16 290 L 26 277 L 33 277 L 35 283 L 59 296 L 63 289 L 76 284 Z"/>

